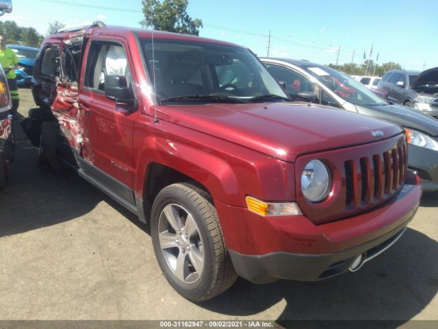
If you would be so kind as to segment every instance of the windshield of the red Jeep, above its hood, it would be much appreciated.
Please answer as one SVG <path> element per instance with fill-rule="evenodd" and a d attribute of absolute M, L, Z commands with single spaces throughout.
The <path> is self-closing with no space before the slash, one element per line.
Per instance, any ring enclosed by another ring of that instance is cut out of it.
<path fill-rule="evenodd" d="M 153 45 L 151 38 L 142 38 L 141 42 L 160 103 L 175 99 L 184 103 L 274 101 L 275 95 L 287 97 L 247 49 L 172 39 L 154 39 Z"/>

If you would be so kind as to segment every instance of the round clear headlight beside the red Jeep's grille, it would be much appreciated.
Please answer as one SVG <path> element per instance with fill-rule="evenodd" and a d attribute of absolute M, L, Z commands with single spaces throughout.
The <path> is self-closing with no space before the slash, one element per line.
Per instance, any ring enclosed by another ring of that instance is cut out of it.
<path fill-rule="evenodd" d="M 320 160 L 311 160 L 301 174 L 301 191 L 310 202 L 320 202 L 329 195 L 329 169 Z"/>

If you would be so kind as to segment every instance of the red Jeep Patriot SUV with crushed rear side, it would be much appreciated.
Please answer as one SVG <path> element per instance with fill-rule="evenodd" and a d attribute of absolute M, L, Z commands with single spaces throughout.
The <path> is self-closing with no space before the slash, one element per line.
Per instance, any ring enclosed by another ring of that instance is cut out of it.
<path fill-rule="evenodd" d="M 189 300 L 237 275 L 355 271 L 419 204 L 400 127 L 290 101 L 237 45 L 95 23 L 47 37 L 33 84 L 41 162 L 151 223 L 159 266 Z"/>

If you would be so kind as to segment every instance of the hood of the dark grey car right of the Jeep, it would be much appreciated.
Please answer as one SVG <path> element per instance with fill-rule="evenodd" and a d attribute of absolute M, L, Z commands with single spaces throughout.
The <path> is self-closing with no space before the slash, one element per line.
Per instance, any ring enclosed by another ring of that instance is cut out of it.
<path fill-rule="evenodd" d="M 402 127 L 420 130 L 438 136 L 438 120 L 413 108 L 401 105 L 357 106 L 361 114 L 396 123 Z"/>

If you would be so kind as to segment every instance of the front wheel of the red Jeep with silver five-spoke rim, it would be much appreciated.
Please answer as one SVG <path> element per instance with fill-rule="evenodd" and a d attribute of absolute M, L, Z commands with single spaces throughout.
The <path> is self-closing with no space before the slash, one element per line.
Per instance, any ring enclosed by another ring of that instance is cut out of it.
<path fill-rule="evenodd" d="M 209 300 L 235 282 L 218 214 L 201 188 L 188 183 L 163 188 L 152 206 L 151 233 L 164 276 L 188 300 Z"/>

